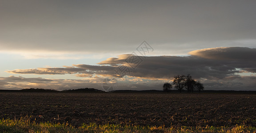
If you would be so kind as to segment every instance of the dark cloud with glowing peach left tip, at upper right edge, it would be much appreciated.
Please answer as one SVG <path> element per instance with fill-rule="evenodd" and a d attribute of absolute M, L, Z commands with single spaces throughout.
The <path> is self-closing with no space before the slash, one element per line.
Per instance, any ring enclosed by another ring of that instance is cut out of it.
<path fill-rule="evenodd" d="M 191 51 L 189 54 L 210 59 L 212 62 L 222 62 L 226 68 L 233 67 L 244 70 L 244 72 L 256 72 L 256 48 L 217 47 Z"/>

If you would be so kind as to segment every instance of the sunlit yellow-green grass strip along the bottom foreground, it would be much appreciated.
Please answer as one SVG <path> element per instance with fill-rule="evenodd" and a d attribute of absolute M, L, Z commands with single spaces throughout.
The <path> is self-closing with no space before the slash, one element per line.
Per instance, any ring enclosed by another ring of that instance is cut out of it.
<path fill-rule="evenodd" d="M 78 128 L 68 123 L 35 123 L 28 117 L 20 120 L 0 120 L 0 133 L 256 133 L 256 127 L 236 125 L 233 127 L 168 127 L 140 126 L 140 125 L 97 125 L 95 123 L 83 124 Z"/>

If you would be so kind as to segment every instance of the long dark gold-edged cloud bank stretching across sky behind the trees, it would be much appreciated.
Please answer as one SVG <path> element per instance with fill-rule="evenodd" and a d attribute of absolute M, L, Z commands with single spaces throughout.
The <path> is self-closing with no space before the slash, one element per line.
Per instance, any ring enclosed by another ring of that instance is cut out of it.
<path fill-rule="evenodd" d="M 208 88 L 216 89 L 217 87 L 214 86 L 235 87 L 236 85 L 242 86 L 245 80 L 253 81 L 255 78 L 251 77 L 254 76 L 243 76 L 243 74 L 256 72 L 256 60 L 253 59 L 256 57 L 255 53 L 254 48 L 217 47 L 191 51 L 189 56 L 119 55 L 118 58 L 108 58 L 98 63 L 100 66 L 77 64 L 64 68 L 19 69 L 8 72 L 14 74 L 76 74 L 77 77 L 84 78 L 99 78 L 100 76 L 100 78 L 119 77 L 119 80 L 123 80 L 124 77 L 118 76 L 117 72 L 128 69 L 125 73 L 128 77 L 151 82 L 153 80 L 170 81 L 174 75 L 191 74 L 196 80 L 204 79 Z M 239 80 L 241 84 L 238 85 Z M 214 86 L 211 85 L 212 83 Z"/>

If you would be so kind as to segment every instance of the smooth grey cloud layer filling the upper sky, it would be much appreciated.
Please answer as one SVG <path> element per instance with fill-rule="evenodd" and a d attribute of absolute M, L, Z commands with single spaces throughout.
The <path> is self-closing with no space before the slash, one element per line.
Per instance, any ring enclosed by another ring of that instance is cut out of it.
<path fill-rule="evenodd" d="M 3 51 L 127 53 L 145 39 L 160 52 L 210 47 L 187 43 L 255 39 L 255 4 L 255 0 L 2 0 L 0 46 Z"/>

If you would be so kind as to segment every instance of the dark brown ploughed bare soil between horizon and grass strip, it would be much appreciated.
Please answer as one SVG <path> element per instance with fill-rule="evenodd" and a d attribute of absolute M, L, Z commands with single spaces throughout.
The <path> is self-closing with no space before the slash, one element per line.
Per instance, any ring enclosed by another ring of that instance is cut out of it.
<path fill-rule="evenodd" d="M 256 126 L 255 94 L 0 92 L 0 118 L 35 122 Z"/>

